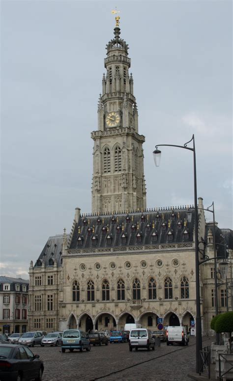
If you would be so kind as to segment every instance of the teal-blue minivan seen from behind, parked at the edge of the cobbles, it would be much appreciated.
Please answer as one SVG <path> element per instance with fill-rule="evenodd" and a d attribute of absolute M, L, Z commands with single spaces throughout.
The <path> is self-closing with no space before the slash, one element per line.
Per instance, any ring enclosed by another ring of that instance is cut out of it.
<path fill-rule="evenodd" d="M 80 352 L 90 351 L 90 340 L 88 333 L 83 332 L 81 329 L 67 329 L 62 333 L 61 339 L 61 352 L 64 353 L 66 349 L 73 352 L 74 349 L 79 349 Z"/>

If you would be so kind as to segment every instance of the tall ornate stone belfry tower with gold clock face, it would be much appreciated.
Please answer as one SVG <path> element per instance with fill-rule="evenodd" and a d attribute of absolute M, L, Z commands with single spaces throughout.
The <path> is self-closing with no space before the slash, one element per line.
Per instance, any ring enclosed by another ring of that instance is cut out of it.
<path fill-rule="evenodd" d="M 98 103 L 98 131 L 93 131 L 92 213 L 146 208 L 145 136 L 138 134 L 138 110 L 129 76 L 128 45 L 120 36 L 107 44 Z"/>

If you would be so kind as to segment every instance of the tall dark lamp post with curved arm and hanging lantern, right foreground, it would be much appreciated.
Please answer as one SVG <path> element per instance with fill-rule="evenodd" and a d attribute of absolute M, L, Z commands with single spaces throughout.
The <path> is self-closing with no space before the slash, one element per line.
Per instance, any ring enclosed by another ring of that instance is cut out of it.
<path fill-rule="evenodd" d="M 193 142 L 193 147 L 187 147 L 187 144 Z M 200 277 L 199 277 L 199 248 L 198 248 L 198 205 L 197 205 L 197 172 L 196 172 L 196 151 L 194 135 L 184 145 L 158 144 L 153 151 L 154 163 L 159 166 L 161 151 L 158 147 L 178 147 L 188 149 L 193 152 L 193 173 L 194 173 L 194 213 L 195 213 L 195 270 L 196 270 L 196 373 L 200 372 L 201 361 L 200 351 L 202 350 L 202 324 L 201 324 L 201 304 L 200 304 Z"/>

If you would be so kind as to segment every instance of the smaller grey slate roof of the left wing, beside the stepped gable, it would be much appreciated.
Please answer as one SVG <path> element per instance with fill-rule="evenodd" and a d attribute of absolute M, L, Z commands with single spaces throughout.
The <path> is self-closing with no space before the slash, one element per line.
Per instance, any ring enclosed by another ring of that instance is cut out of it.
<path fill-rule="evenodd" d="M 44 261 L 45 266 L 52 266 L 52 261 L 57 261 L 58 266 L 61 266 L 61 254 L 62 254 L 62 240 L 63 240 L 63 234 L 58 234 L 53 237 L 49 237 L 48 241 L 46 242 L 43 250 L 40 253 L 39 258 L 37 259 L 35 263 L 35 267 L 41 266 L 41 263 Z M 67 235 L 68 239 L 68 235 Z M 51 261 L 52 260 L 52 261 Z M 50 264 L 51 263 L 51 264 Z"/>

